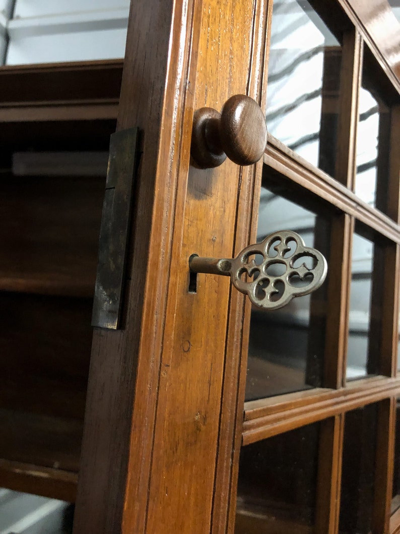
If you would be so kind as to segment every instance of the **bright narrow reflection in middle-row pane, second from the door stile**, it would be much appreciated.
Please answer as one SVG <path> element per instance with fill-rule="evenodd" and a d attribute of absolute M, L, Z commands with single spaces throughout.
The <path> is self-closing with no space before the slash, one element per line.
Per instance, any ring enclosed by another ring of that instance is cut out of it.
<path fill-rule="evenodd" d="M 353 235 L 347 379 L 377 372 L 381 301 L 380 295 L 373 295 L 372 275 L 377 268 L 374 262 L 381 259 L 380 252 L 369 239 L 357 233 Z"/>

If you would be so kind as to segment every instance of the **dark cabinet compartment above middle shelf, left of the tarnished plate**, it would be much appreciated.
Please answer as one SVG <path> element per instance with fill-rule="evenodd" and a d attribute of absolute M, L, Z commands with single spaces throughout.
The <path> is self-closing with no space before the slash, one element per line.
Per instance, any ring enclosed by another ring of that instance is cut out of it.
<path fill-rule="evenodd" d="M 104 187 L 104 177 L 4 180 L 0 291 L 92 297 Z"/>

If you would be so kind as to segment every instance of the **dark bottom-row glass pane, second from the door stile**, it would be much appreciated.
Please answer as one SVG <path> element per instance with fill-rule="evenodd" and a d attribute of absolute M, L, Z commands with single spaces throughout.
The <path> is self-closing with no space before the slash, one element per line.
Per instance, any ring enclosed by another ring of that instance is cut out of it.
<path fill-rule="evenodd" d="M 374 501 L 377 405 L 346 414 L 340 534 L 370 534 Z"/>

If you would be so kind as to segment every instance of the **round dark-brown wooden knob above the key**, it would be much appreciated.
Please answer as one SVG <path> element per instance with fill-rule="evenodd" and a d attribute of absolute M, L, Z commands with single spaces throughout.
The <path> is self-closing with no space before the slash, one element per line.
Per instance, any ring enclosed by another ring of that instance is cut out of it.
<path fill-rule="evenodd" d="M 190 152 L 201 169 L 218 167 L 227 156 L 238 165 L 251 165 L 262 158 L 266 144 L 264 114 L 246 95 L 230 97 L 221 113 L 202 107 L 194 114 Z"/>

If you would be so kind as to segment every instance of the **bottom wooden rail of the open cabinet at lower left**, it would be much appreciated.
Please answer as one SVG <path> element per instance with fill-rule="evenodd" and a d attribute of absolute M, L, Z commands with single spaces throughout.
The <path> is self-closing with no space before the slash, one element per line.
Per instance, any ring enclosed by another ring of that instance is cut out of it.
<path fill-rule="evenodd" d="M 0 459 L 3 488 L 75 502 L 77 482 L 77 473 Z"/>

